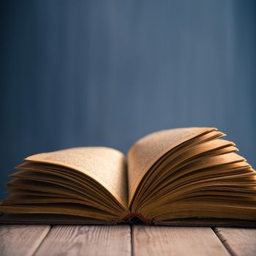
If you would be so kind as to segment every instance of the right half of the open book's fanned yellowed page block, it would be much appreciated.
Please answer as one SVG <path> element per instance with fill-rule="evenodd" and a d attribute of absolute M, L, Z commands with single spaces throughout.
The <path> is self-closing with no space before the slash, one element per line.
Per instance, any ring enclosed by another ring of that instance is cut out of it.
<path fill-rule="evenodd" d="M 256 172 L 224 135 L 213 127 L 191 127 L 138 140 L 128 154 L 131 212 L 158 224 L 255 221 Z"/>

